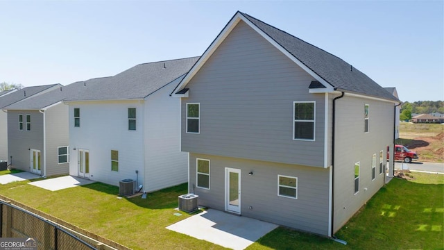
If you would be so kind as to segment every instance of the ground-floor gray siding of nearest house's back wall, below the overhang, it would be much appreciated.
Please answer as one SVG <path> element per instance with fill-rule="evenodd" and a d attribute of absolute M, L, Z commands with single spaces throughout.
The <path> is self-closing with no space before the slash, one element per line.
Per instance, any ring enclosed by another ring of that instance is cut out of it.
<path fill-rule="evenodd" d="M 210 160 L 210 190 L 194 188 L 196 158 Z M 328 234 L 328 169 L 190 153 L 189 188 L 201 206 L 225 210 L 225 167 L 241 169 L 242 216 Z M 278 174 L 298 177 L 298 199 L 278 196 Z"/>

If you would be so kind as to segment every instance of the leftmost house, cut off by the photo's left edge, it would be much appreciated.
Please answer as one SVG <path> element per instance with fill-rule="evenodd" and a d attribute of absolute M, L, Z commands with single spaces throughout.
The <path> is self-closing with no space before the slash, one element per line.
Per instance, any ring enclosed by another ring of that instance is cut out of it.
<path fill-rule="evenodd" d="M 0 160 L 7 160 L 11 163 L 10 154 L 8 153 L 8 113 L 4 109 L 6 106 L 21 101 L 29 97 L 35 97 L 39 94 L 44 94 L 55 88 L 60 84 L 42 85 L 22 88 L 21 90 L 6 90 L 0 92 Z M 15 126 L 18 126 L 16 121 Z"/>

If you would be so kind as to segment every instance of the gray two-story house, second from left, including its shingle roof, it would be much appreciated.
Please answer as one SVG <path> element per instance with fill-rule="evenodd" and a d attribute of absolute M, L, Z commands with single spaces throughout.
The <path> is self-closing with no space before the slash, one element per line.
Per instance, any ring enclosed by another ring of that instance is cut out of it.
<path fill-rule="evenodd" d="M 89 80 L 96 82 L 98 79 Z M 53 85 L 3 108 L 8 112 L 8 152 L 12 167 L 41 176 L 68 174 L 68 106 L 63 103 L 78 94 L 83 82 Z"/>

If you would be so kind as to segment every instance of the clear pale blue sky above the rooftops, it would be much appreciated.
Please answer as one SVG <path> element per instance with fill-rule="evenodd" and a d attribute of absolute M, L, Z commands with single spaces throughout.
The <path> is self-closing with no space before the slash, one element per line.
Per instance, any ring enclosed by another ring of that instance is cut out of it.
<path fill-rule="evenodd" d="M 0 82 L 68 85 L 200 56 L 240 10 L 402 101 L 444 100 L 443 1 L 0 1 Z"/>

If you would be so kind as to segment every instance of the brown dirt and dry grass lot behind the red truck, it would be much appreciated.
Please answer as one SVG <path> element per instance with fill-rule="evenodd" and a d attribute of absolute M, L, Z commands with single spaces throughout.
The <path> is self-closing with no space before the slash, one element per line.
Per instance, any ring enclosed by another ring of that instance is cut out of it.
<path fill-rule="evenodd" d="M 400 124 L 400 139 L 396 143 L 416 151 L 419 161 L 444 162 L 443 124 Z"/>

